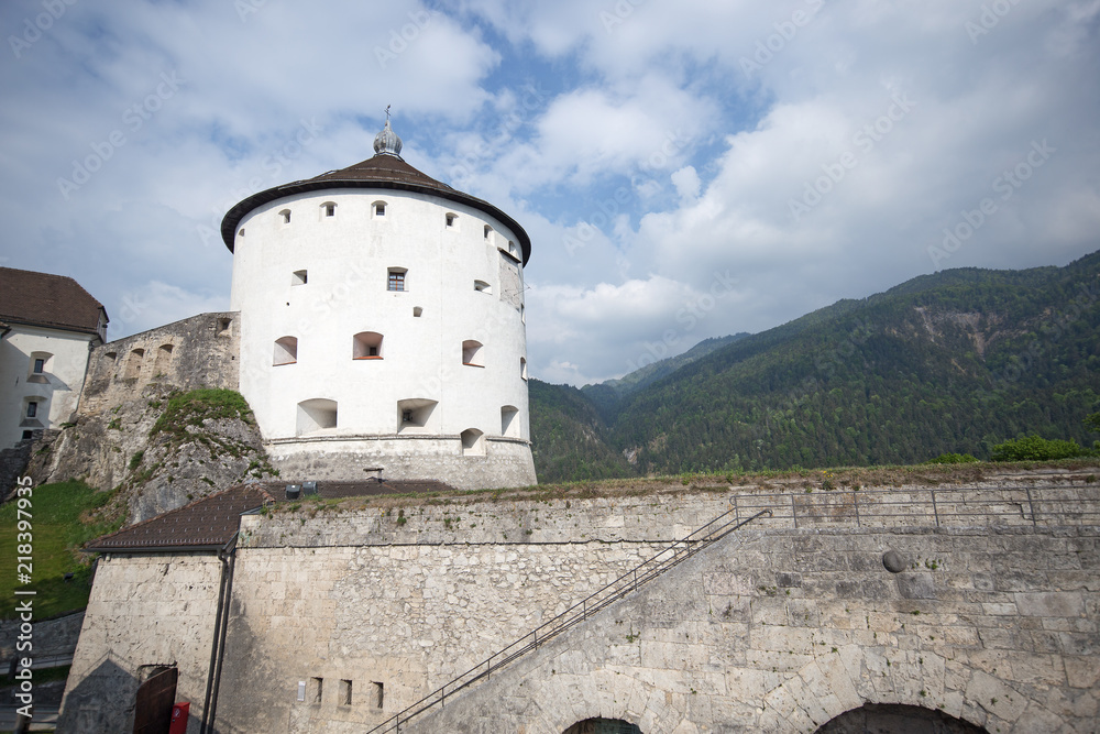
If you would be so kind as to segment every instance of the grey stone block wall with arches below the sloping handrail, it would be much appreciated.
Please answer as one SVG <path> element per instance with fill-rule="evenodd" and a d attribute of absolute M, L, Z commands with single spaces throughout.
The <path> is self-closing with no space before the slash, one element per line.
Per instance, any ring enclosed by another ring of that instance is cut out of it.
<path fill-rule="evenodd" d="M 888 703 L 1096 732 L 1098 550 L 1096 527 L 743 530 L 400 731 L 814 732 Z"/>

